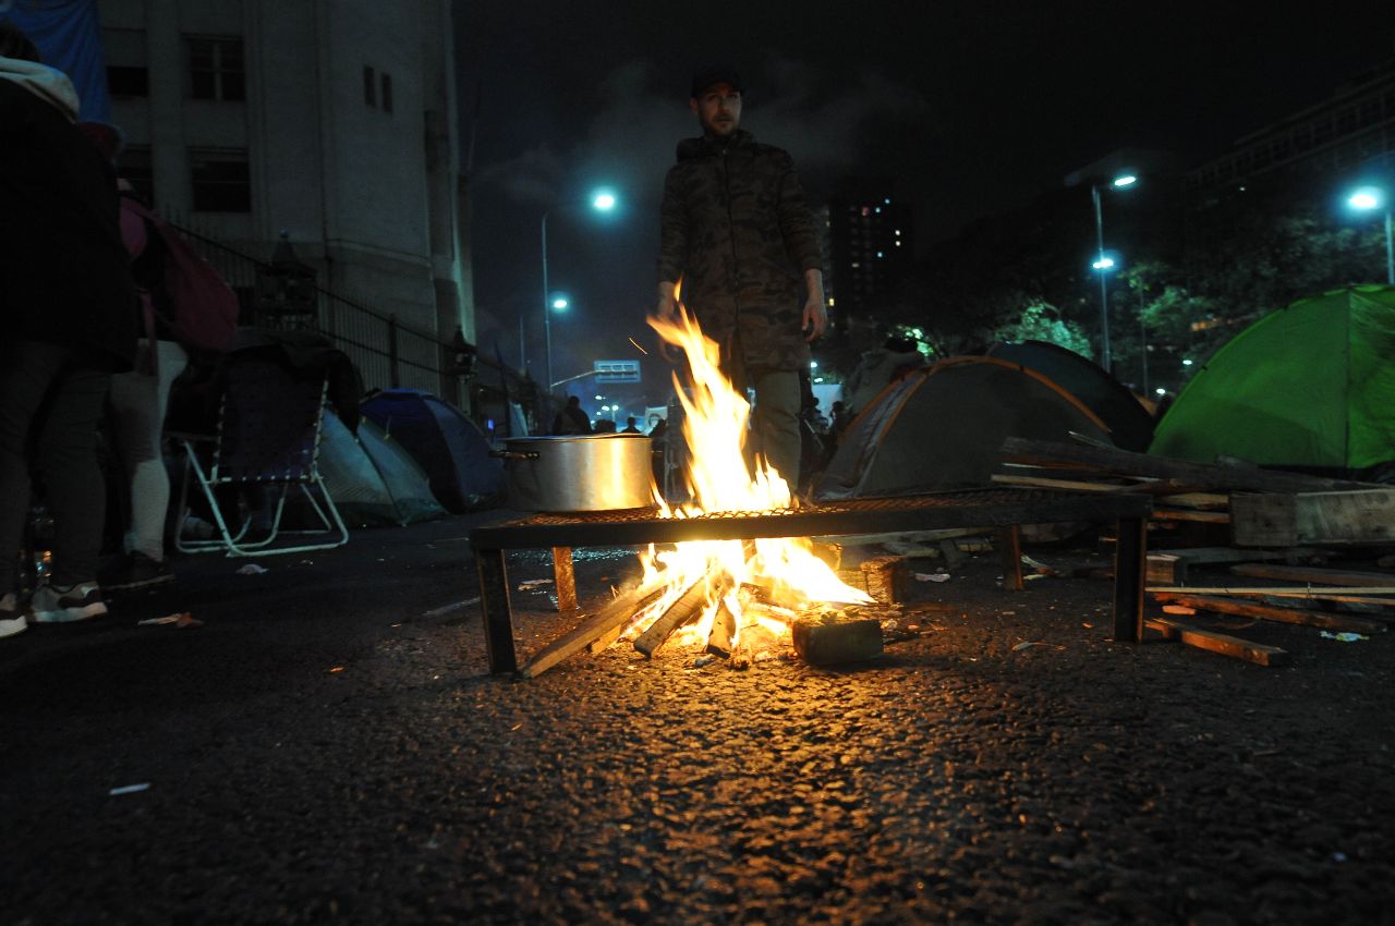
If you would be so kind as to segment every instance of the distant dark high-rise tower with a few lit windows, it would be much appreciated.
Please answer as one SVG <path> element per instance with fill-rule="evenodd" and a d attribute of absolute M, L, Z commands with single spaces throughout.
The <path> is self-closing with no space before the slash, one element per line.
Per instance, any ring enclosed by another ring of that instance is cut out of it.
<path fill-rule="evenodd" d="M 875 312 L 897 296 L 915 262 L 911 219 L 910 204 L 886 192 L 862 190 L 829 199 L 824 276 L 840 317 Z"/>

